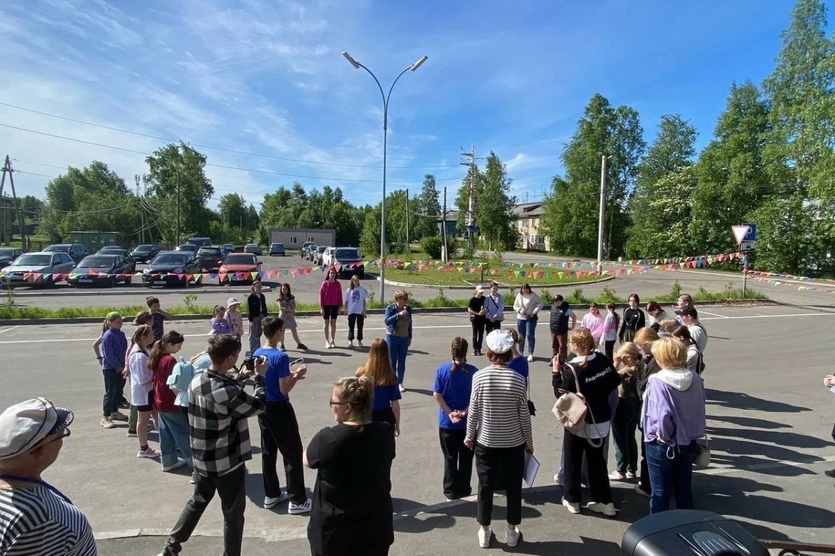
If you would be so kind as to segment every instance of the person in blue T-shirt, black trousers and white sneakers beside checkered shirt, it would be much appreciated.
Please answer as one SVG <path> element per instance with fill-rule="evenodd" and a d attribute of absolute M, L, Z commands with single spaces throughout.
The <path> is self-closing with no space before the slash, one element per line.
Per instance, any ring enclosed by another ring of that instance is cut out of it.
<path fill-rule="evenodd" d="M 255 357 L 266 358 L 267 369 L 264 376 L 266 386 L 266 411 L 258 416 L 261 427 L 261 468 L 264 473 L 264 507 L 275 508 L 276 504 L 289 499 L 287 513 L 298 514 L 311 511 L 311 499 L 305 490 L 305 473 L 301 464 L 301 445 L 299 423 L 296 412 L 290 403 L 290 391 L 296 383 L 305 377 L 307 365 L 304 360 L 297 360 L 290 368 L 290 358 L 278 346 L 284 335 L 284 321 L 269 316 L 261 320 L 266 342 L 258 348 Z M 281 490 L 276 473 L 278 453 L 284 460 L 284 472 L 287 489 Z"/>

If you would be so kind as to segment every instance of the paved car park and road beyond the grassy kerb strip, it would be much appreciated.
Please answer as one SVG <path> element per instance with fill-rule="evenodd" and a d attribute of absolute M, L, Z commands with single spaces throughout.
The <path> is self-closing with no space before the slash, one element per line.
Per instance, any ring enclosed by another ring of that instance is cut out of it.
<path fill-rule="evenodd" d="M 544 258 L 541 255 L 529 255 L 524 253 L 509 253 L 505 256 L 509 262 L 533 263 L 538 261 L 554 261 L 554 258 Z M 279 268 L 301 268 L 310 266 L 309 261 L 299 257 L 262 257 L 264 270 L 275 270 Z M 143 265 L 139 265 L 143 268 Z M 281 278 L 291 284 L 293 293 L 300 303 L 317 303 L 321 273 L 314 272 L 306 276 Z M 267 285 L 275 288 L 277 278 L 266 279 Z M 547 288 L 551 293 L 562 293 L 568 295 L 575 288 L 582 288 L 584 293 L 593 296 L 601 293 L 603 288 L 614 289 L 621 297 L 627 297 L 629 293 L 637 292 L 646 301 L 661 294 L 669 293 L 673 283 L 678 281 L 685 292 L 696 292 L 699 288 L 706 288 L 711 292 L 721 291 L 731 284 L 734 288 L 741 287 L 741 277 L 733 274 L 711 273 L 701 271 L 660 271 L 652 270 L 645 274 L 635 274 L 625 278 L 615 278 L 605 283 L 598 284 L 568 284 L 557 288 Z M 347 280 L 343 280 L 347 285 Z M 379 283 L 369 277 L 363 280 L 365 287 L 375 296 L 379 293 Z M 754 279 L 748 280 L 748 287 L 755 288 L 766 293 L 770 298 L 782 303 L 797 303 L 815 308 L 835 308 L 835 294 L 826 289 L 815 289 L 812 291 L 798 292 L 797 287 L 772 286 L 761 283 Z M 438 295 L 438 288 L 430 287 L 409 287 L 407 288 L 412 296 L 417 299 L 429 299 Z M 443 288 L 449 298 L 469 298 L 472 295 L 470 290 Z M 397 287 L 388 285 L 386 287 L 387 298 L 391 298 Z M 835 287 L 832 287 L 835 290 Z M 154 288 L 153 294 L 158 296 L 163 307 L 183 306 L 186 293 L 197 296 L 195 304 L 212 306 L 216 303 L 225 303 L 227 298 L 235 296 L 239 299 L 245 297 L 248 288 L 217 286 L 216 284 L 205 284 L 192 288 Z M 151 293 L 146 288 L 135 286 L 125 287 L 119 285 L 117 288 L 99 289 L 74 289 L 58 288 L 51 290 L 18 288 L 14 290 L 14 303 L 21 306 L 34 306 L 44 308 L 59 307 L 124 307 L 126 305 L 144 304 L 144 298 Z M 276 293 L 268 293 L 270 301 L 274 301 Z"/>

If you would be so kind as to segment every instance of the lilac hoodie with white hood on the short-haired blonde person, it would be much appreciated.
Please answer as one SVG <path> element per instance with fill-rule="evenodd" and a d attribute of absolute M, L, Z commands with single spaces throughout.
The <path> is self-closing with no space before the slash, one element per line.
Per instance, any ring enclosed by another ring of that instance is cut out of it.
<path fill-rule="evenodd" d="M 641 423 L 645 442 L 686 446 L 705 436 L 705 387 L 686 368 L 662 369 L 650 376 Z"/>

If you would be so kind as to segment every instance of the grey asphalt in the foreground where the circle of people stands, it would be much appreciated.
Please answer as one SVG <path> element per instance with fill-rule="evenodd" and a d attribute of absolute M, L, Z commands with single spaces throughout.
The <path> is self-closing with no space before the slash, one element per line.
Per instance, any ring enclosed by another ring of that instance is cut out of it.
<path fill-rule="evenodd" d="M 663 277 L 664 275 L 662 275 Z M 832 480 L 822 471 L 835 467 L 832 394 L 822 387 L 831 372 L 830 312 L 809 308 L 704 308 L 710 332 L 705 378 L 708 426 L 715 455 L 713 467 L 696 473 L 696 504 L 746 523 L 761 538 L 796 538 L 835 543 Z M 367 326 L 369 338 L 382 335 L 382 318 Z M 329 384 L 353 373 L 364 353 L 321 349 L 316 318 L 302 318 L 302 338 L 312 353 L 308 379 L 292 393 L 301 421 L 303 442 L 331 424 L 327 407 Z M 344 320 L 340 321 L 344 324 Z M 415 340 L 407 360 L 407 387 L 402 402 L 402 436 L 392 469 L 392 496 L 397 510 L 392 554 L 473 553 L 475 508 L 471 501 L 443 502 L 442 462 L 436 430 L 436 407 L 430 398 L 433 369 L 447 357 L 454 335 L 468 336 L 463 315 L 422 314 L 416 318 Z M 203 323 L 171 323 L 187 335 L 184 353 L 199 351 L 205 341 Z M 136 441 L 124 428 L 99 428 L 101 373 L 90 344 L 97 325 L 54 325 L 0 328 L 3 388 L 0 407 L 44 395 L 73 408 L 73 436 L 58 464 L 46 478 L 67 493 L 89 516 L 105 556 L 154 554 L 158 535 L 174 523 L 190 484 L 185 475 L 162 473 L 159 463 L 134 457 Z M 540 343 L 547 330 L 540 327 Z M 340 338 L 345 338 L 341 328 Z M 345 340 L 342 340 L 344 345 Z M 540 352 L 544 351 L 542 346 Z M 295 354 L 295 352 L 291 352 Z M 483 364 L 483 358 L 474 363 Z M 526 542 L 516 552 L 529 554 L 616 554 L 626 527 L 646 513 L 646 499 L 629 484 L 615 485 L 618 518 L 569 516 L 559 506 L 559 488 L 551 478 L 559 466 L 560 431 L 549 408 L 554 402 L 549 369 L 540 360 L 532 368 L 536 454 L 542 462 L 534 492 L 526 495 L 522 529 Z M 255 420 L 253 444 L 260 445 Z M 261 461 L 249 463 L 245 553 L 307 554 L 306 518 L 286 514 L 286 507 L 267 511 Z M 315 475 L 307 473 L 312 487 Z M 496 528 L 501 529 L 504 503 L 498 500 Z M 222 521 L 212 503 L 185 554 L 220 553 Z M 141 536 L 137 536 L 140 535 Z M 122 538 L 114 538 L 122 537 Z M 499 535 L 504 541 L 504 534 Z M 504 549 L 504 544 L 493 546 Z"/>

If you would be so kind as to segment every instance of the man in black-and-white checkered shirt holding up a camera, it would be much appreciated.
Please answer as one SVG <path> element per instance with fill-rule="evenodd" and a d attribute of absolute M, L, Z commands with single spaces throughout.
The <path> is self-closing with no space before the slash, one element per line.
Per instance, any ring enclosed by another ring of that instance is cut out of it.
<path fill-rule="evenodd" d="M 185 503 L 180 518 L 159 556 L 176 556 L 194 532 L 200 516 L 215 492 L 223 511 L 224 554 L 240 556 L 244 536 L 246 468 L 252 458 L 246 419 L 266 408 L 264 373 L 266 360 L 256 360 L 255 370 L 229 376 L 240 355 L 240 338 L 216 334 L 209 339 L 209 370 L 189 385 L 189 433 L 196 473 L 195 493 Z M 255 392 L 244 391 L 241 382 L 255 375 Z"/>

